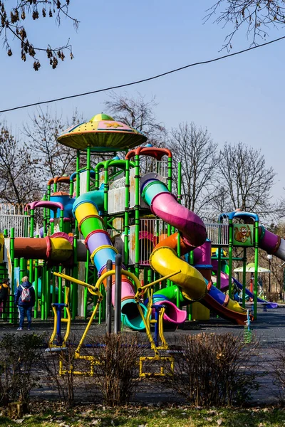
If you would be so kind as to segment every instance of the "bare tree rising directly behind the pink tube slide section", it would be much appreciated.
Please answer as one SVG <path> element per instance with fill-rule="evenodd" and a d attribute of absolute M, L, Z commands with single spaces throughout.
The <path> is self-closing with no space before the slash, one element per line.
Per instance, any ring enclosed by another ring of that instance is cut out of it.
<path fill-rule="evenodd" d="M 174 169 L 181 162 L 183 204 L 197 213 L 205 211 L 214 193 L 214 174 L 219 163 L 217 144 L 207 129 L 197 128 L 193 122 L 173 129 L 168 144 Z M 177 181 L 175 186 L 177 190 Z"/>

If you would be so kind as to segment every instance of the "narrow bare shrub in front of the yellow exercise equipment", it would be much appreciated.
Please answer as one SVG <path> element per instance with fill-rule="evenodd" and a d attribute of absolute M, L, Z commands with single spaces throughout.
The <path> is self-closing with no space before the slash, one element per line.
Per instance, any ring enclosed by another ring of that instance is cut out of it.
<path fill-rule="evenodd" d="M 138 362 L 144 344 L 138 334 L 93 337 L 94 385 L 108 406 L 128 404 L 138 385 Z"/>

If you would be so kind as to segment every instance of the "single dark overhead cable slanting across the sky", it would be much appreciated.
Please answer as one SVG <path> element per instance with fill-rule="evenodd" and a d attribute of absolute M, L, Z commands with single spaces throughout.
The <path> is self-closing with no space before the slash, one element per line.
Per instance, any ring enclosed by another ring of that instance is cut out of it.
<path fill-rule="evenodd" d="M 267 46 L 267 45 L 269 45 L 271 43 L 275 43 L 276 41 L 283 40 L 284 38 L 285 38 L 285 36 L 282 36 L 282 37 L 279 37 L 279 38 L 275 38 L 274 40 L 267 41 L 266 43 L 263 43 L 263 44 L 258 45 L 258 46 L 252 46 L 252 48 L 247 48 L 247 49 L 244 49 L 243 51 L 229 53 L 228 55 L 219 56 L 218 58 L 209 59 L 209 60 L 202 60 L 202 61 L 197 62 L 197 63 L 192 63 L 192 64 L 189 64 L 189 65 L 184 65 L 184 67 L 175 68 L 175 70 L 166 71 L 165 73 L 153 75 L 152 77 L 144 78 L 142 80 L 136 80 L 135 82 L 124 83 L 123 85 L 110 86 L 109 88 L 103 88 L 103 89 L 98 89 L 98 90 L 91 90 L 90 92 L 78 93 L 76 95 L 64 96 L 64 97 L 60 97 L 60 98 L 56 98 L 56 99 L 48 100 L 48 101 L 33 102 L 32 104 L 20 105 L 19 107 L 13 107 L 13 108 L 7 108 L 6 110 L 0 110 L 0 113 L 1 112 L 14 111 L 14 110 L 21 110 L 21 108 L 34 107 L 35 105 L 43 105 L 43 104 L 48 104 L 50 102 L 57 102 L 57 101 L 62 101 L 62 100 L 69 100 L 69 99 L 71 99 L 73 97 L 80 97 L 80 96 L 91 95 L 93 93 L 106 92 L 107 90 L 113 90 L 113 89 L 119 89 L 119 88 L 126 88 L 127 86 L 138 85 L 139 83 L 144 83 L 144 82 L 148 82 L 150 80 L 155 80 L 156 78 L 163 77 L 164 75 L 167 75 L 167 74 L 177 73 L 177 71 L 185 70 L 185 68 L 195 67 L 196 65 L 209 64 L 209 63 L 216 62 L 217 60 L 221 60 L 221 59 L 224 59 L 224 58 L 229 58 L 231 56 L 240 55 L 241 53 L 244 53 L 244 52 L 253 51 L 254 49 L 262 48 L 263 46 Z"/>

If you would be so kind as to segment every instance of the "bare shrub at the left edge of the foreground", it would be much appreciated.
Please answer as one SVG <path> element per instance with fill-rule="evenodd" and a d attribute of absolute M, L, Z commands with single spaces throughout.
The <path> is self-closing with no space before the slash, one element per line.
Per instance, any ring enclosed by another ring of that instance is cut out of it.
<path fill-rule="evenodd" d="M 38 380 L 38 360 L 43 336 L 4 334 L 0 342 L 0 404 L 28 404 Z"/>

